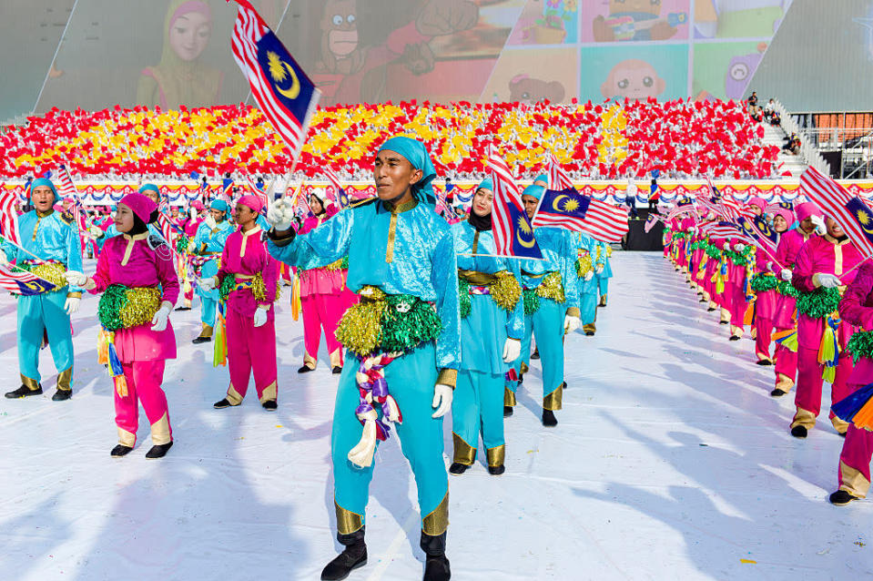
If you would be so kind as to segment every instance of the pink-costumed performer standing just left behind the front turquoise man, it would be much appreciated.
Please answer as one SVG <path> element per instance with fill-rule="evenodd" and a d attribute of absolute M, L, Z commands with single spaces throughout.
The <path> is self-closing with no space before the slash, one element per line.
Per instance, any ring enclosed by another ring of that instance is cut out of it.
<path fill-rule="evenodd" d="M 203 290 L 221 289 L 227 296 L 228 371 L 230 386 L 213 407 L 239 405 L 255 376 L 258 400 L 265 410 L 276 410 L 276 301 L 279 262 L 267 252 L 264 232 L 256 220 L 263 208 L 257 196 L 237 202 L 234 220 L 239 229 L 225 242 L 221 268 L 215 277 L 200 280 Z"/>

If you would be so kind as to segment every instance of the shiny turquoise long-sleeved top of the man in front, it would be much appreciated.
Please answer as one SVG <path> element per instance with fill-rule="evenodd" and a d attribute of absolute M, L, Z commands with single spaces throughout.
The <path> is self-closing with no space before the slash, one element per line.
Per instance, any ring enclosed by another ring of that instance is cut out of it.
<path fill-rule="evenodd" d="M 433 302 L 442 320 L 437 367 L 458 369 L 458 264 L 449 225 L 430 205 L 413 199 L 392 211 L 389 204 L 376 200 L 344 209 L 289 243 L 269 240 L 268 250 L 277 260 L 304 270 L 327 266 L 348 254 L 350 290 L 371 285 L 388 294 Z"/>

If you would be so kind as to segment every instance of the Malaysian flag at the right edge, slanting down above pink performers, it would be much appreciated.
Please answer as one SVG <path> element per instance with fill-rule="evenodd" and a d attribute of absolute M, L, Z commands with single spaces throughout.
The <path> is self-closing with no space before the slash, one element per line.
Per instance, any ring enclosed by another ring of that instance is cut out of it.
<path fill-rule="evenodd" d="M 865 258 L 873 256 L 873 211 L 867 204 L 816 168 L 803 172 L 800 189 L 839 224 Z"/>

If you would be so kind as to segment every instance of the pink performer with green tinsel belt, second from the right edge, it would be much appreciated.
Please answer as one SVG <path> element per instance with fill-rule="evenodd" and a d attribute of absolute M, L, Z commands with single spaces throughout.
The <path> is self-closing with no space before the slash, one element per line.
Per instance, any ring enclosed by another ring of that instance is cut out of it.
<path fill-rule="evenodd" d="M 807 240 L 797 253 L 791 284 L 800 293 L 797 298 L 797 394 L 794 398 L 797 413 L 791 421 L 791 435 L 807 437 L 816 425 L 821 410 L 823 363 L 819 349 L 827 344 L 827 328 L 836 327 L 836 337 L 843 352 L 838 353 L 836 373 L 831 382 L 831 402 L 838 402 L 849 394 L 846 381 L 852 372 L 852 357 L 845 352 L 846 343 L 854 329 L 848 321 L 836 315 L 842 285 L 855 280 L 853 270 L 864 257 L 848 240 L 836 221 L 825 219 L 827 234 Z M 845 433 L 848 424 L 829 414 L 837 433 Z"/>

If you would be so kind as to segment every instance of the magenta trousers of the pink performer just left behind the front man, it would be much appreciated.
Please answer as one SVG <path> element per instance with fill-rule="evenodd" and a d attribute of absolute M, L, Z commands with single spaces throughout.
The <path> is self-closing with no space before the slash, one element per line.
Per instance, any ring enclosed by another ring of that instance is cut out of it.
<path fill-rule="evenodd" d="M 255 376 L 255 389 L 260 403 L 275 400 L 276 389 L 276 324 L 273 317 L 255 327 L 253 317 L 228 309 L 228 370 L 230 387 L 228 402 L 242 403 L 249 391 L 249 378 Z"/>

